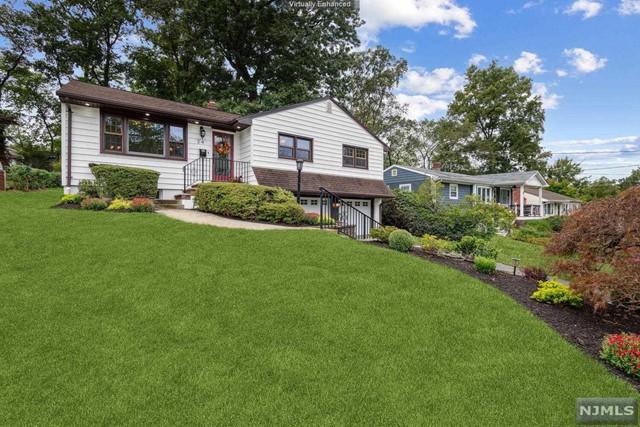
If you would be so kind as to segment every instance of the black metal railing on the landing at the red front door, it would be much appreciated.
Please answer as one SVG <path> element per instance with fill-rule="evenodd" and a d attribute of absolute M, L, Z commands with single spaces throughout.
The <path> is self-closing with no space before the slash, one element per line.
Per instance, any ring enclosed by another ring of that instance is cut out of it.
<path fill-rule="evenodd" d="M 184 189 L 210 181 L 247 182 L 249 167 L 249 162 L 225 157 L 199 157 L 182 168 Z"/>

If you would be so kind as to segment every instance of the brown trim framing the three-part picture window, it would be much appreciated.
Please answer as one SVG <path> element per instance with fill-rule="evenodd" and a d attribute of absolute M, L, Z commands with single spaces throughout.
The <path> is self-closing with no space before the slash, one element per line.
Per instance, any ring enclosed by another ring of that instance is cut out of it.
<path fill-rule="evenodd" d="M 104 147 L 104 118 L 105 116 L 114 116 L 122 119 L 122 151 L 106 150 Z M 151 123 L 157 123 L 164 126 L 164 154 L 139 153 L 137 151 L 129 151 L 129 120 L 147 120 Z M 169 156 L 169 128 L 171 126 L 181 127 L 183 129 L 184 155 L 182 157 Z M 142 113 L 123 113 L 117 110 L 100 109 L 100 154 L 114 154 L 116 156 L 132 156 L 145 157 L 149 159 L 173 160 L 184 162 L 189 157 L 189 123 L 180 122 L 179 120 L 167 120 L 160 118 L 150 118 Z"/>

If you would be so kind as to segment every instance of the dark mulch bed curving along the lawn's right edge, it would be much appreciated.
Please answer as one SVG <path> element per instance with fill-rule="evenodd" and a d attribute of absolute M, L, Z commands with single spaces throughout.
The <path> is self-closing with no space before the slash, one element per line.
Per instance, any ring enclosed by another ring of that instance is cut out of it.
<path fill-rule="evenodd" d="M 371 244 L 389 248 L 389 245 L 380 242 L 371 242 Z M 530 298 L 531 294 L 538 289 L 538 284 L 535 280 L 499 271 L 494 275 L 478 273 L 471 262 L 431 255 L 419 249 L 414 249 L 413 255 L 455 268 L 500 289 L 555 329 L 571 344 L 600 362 L 614 375 L 627 380 L 640 390 L 640 381 L 604 363 L 600 359 L 604 336 L 621 332 L 640 333 L 640 316 L 631 316 L 619 310 L 610 310 L 607 313 L 595 315 L 593 309 L 587 305 L 581 308 L 572 308 L 539 303 Z"/>

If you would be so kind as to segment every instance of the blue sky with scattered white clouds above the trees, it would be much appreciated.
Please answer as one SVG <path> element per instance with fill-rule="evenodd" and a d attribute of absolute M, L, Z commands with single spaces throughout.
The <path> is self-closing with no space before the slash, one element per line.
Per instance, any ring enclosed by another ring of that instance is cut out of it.
<path fill-rule="evenodd" d="M 360 36 L 409 61 L 398 97 L 438 118 L 470 61 L 531 77 L 546 107 L 544 147 L 585 176 L 640 166 L 640 0 L 362 0 Z M 587 152 L 587 153 L 583 153 Z"/>

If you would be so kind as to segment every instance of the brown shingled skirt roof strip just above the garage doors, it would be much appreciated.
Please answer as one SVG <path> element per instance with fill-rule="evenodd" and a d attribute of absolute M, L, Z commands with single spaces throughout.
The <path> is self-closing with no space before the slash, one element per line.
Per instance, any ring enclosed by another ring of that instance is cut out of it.
<path fill-rule="evenodd" d="M 253 168 L 258 184 L 297 191 L 298 172 L 280 169 Z M 324 187 L 339 197 L 375 198 L 393 197 L 393 193 L 382 180 L 352 178 L 337 175 L 302 172 L 301 193 L 317 196 Z"/>

